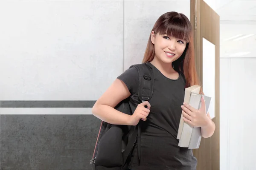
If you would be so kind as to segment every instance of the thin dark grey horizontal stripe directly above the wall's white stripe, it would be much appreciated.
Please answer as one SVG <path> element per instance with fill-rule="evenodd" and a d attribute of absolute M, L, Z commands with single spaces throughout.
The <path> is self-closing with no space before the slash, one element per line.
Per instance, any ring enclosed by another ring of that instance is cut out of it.
<path fill-rule="evenodd" d="M 92 108 L 95 100 L 78 101 L 0 101 L 1 108 Z"/>

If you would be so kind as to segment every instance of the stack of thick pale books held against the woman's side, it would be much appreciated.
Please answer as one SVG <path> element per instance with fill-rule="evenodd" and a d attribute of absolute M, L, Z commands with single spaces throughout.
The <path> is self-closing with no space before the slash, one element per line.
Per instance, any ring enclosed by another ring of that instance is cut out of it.
<path fill-rule="evenodd" d="M 199 94 L 201 86 L 193 85 L 185 89 L 184 102 L 188 103 L 195 109 L 201 108 L 201 97 Z M 208 113 L 211 97 L 204 96 L 206 113 Z M 178 129 L 177 139 L 179 139 L 178 146 L 188 147 L 189 149 L 198 149 L 201 142 L 201 127 L 192 127 L 183 120 L 183 113 L 180 117 L 180 125 Z"/>

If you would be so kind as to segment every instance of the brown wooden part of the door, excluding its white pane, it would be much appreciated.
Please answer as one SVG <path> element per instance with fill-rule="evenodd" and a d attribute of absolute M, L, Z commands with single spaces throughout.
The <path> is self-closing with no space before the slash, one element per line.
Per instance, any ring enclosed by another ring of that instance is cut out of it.
<path fill-rule="evenodd" d="M 209 10 L 204 10 L 204 9 Z M 209 19 L 210 18 L 210 19 Z M 203 20 L 203 22 L 201 22 Z M 214 22 L 212 22 L 214 20 Z M 190 1 L 190 21 L 194 31 L 195 67 L 203 88 L 203 38 L 215 44 L 215 132 L 212 137 L 201 139 L 199 149 L 193 150 L 198 159 L 197 170 L 220 169 L 220 34 L 219 16 L 203 0 Z M 218 23 L 217 25 L 214 23 Z M 201 26 L 204 25 L 204 29 Z M 207 34 L 207 32 L 213 34 Z"/>

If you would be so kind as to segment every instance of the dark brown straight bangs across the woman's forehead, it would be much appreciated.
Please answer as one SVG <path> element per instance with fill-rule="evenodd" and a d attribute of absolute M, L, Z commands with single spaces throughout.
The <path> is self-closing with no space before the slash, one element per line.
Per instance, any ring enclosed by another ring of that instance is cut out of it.
<path fill-rule="evenodd" d="M 191 25 L 189 25 L 186 20 L 180 16 L 175 16 L 160 24 L 156 32 L 159 32 L 159 34 L 167 34 L 189 42 L 192 34 L 191 30 Z"/>

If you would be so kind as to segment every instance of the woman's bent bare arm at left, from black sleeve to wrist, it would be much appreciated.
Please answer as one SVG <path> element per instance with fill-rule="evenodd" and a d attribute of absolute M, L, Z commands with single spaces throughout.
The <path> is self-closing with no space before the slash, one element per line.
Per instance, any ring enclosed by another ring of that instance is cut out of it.
<path fill-rule="evenodd" d="M 125 83 L 115 79 L 107 91 L 94 104 L 93 115 L 104 122 L 114 125 L 128 125 L 130 115 L 117 111 L 114 107 L 130 95 L 131 93 Z"/>

